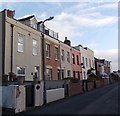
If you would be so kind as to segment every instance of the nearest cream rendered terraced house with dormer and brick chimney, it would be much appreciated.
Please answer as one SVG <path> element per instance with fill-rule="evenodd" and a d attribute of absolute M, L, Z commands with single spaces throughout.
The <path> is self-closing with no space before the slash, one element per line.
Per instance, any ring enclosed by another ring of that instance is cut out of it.
<path fill-rule="evenodd" d="M 0 76 L 14 73 L 27 81 L 34 76 L 41 80 L 41 32 L 35 17 L 16 20 L 14 11 L 5 9 L 0 12 L 0 19 Z"/>

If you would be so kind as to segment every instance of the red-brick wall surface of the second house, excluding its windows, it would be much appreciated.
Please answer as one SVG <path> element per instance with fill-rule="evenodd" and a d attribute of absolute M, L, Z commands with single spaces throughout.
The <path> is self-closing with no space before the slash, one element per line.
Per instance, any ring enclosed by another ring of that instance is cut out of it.
<path fill-rule="evenodd" d="M 55 60 L 55 43 L 49 41 L 50 43 L 50 58 L 46 58 L 46 65 L 52 66 L 52 80 L 58 80 L 58 69 L 60 67 L 60 46 L 58 46 L 58 60 Z M 46 52 L 45 52 L 46 54 Z"/>

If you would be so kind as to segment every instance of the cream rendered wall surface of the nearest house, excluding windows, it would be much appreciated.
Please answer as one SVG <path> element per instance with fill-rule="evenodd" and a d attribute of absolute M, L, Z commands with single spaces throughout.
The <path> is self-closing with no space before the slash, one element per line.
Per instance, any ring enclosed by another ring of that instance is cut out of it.
<path fill-rule="evenodd" d="M 6 17 L 6 48 L 5 48 L 5 74 L 10 72 L 10 60 L 11 60 L 11 24 L 13 27 L 13 72 L 16 74 L 16 67 L 21 66 L 25 68 L 25 80 L 32 81 L 34 67 L 39 66 L 41 80 L 41 32 L 20 23 L 12 18 Z M 18 52 L 18 33 L 25 36 L 24 52 Z M 38 41 L 38 54 L 32 54 L 32 39 Z"/>

